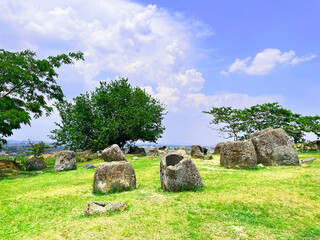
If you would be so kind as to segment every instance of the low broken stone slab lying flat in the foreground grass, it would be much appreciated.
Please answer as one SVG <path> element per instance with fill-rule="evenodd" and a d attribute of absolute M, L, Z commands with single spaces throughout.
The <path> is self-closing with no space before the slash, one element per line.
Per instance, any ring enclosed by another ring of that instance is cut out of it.
<path fill-rule="evenodd" d="M 104 215 L 108 212 L 121 211 L 123 212 L 127 208 L 126 202 L 110 202 L 105 204 L 104 202 L 89 202 L 84 210 L 84 216 Z"/>

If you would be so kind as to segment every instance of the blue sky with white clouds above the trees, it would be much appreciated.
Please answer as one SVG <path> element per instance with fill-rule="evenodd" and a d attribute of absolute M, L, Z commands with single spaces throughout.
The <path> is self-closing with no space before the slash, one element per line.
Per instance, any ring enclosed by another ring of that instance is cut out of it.
<path fill-rule="evenodd" d="M 84 62 L 58 70 L 68 100 L 126 77 L 167 105 L 159 144 L 215 145 L 223 139 L 202 113 L 212 107 L 320 114 L 319 12 L 318 0 L 1 0 L 0 48 L 82 51 Z M 48 141 L 59 120 L 9 139 Z"/>

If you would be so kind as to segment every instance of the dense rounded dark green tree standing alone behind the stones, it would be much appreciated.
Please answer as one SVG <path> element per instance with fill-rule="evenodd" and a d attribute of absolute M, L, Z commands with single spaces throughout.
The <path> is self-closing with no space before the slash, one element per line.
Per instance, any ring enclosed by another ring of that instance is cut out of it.
<path fill-rule="evenodd" d="M 61 123 L 51 133 L 55 145 L 97 151 L 111 144 L 156 142 L 164 131 L 164 105 L 128 79 L 110 83 L 56 105 Z"/>

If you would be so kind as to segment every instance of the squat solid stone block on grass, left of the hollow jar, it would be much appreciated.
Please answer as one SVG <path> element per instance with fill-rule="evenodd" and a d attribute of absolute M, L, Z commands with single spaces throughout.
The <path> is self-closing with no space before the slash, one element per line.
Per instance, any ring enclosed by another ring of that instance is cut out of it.
<path fill-rule="evenodd" d="M 102 193 L 136 188 L 136 175 L 129 162 L 100 163 L 94 174 L 93 189 Z"/>

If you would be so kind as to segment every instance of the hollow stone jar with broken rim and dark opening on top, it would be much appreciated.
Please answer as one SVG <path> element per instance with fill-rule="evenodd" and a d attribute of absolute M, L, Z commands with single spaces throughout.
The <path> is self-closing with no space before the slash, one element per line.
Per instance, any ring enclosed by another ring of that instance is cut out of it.
<path fill-rule="evenodd" d="M 160 162 L 161 188 L 165 191 L 192 190 L 203 187 L 199 171 L 193 161 L 184 154 L 172 153 Z"/>

